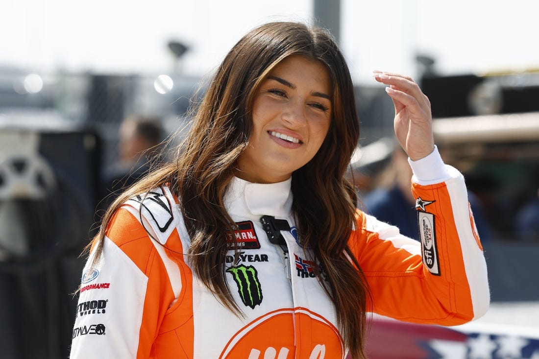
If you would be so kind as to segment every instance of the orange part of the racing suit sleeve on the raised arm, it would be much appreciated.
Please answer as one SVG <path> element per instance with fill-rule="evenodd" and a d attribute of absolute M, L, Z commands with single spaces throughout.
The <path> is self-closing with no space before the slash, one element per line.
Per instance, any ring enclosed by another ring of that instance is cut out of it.
<path fill-rule="evenodd" d="M 416 197 L 435 201 L 426 211 L 435 216 L 441 275 L 433 275 L 423 264 L 417 241 L 400 243 L 402 235 L 385 224 L 379 233 L 368 230 L 367 216 L 360 212 L 350 248 L 370 286 L 370 309 L 418 323 L 469 321 L 474 317 L 472 299 L 448 189 L 438 184 L 416 186 L 414 191 Z M 415 252 L 406 247 L 410 244 Z"/>

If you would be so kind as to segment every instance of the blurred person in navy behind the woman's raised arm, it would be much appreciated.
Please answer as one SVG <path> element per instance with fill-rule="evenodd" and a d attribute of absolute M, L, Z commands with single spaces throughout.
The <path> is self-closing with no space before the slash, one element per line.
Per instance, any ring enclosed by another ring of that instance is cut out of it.
<path fill-rule="evenodd" d="M 408 156 L 402 147 L 397 145 L 390 157 L 391 162 L 376 177 L 378 186 L 360 200 L 360 208 L 378 220 L 399 227 L 400 233 L 406 237 L 419 240 L 418 207 L 416 198 L 410 191 L 413 173 Z M 471 191 L 468 191 L 468 201 L 479 237 L 482 241 L 490 240 L 491 230 L 482 204 Z"/>

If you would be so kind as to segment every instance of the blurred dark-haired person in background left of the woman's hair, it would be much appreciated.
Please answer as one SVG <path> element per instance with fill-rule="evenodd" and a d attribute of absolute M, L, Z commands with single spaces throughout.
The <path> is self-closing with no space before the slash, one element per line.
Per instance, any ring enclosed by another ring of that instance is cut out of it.
<path fill-rule="evenodd" d="M 160 156 L 165 136 L 157 116 L 127 116 L 120 124 L 118 136 L 118 158 L 102 176 L 100 210 L 106 210 L 120 191 L 147 175 L 153 161 L 163 161 Z"/>

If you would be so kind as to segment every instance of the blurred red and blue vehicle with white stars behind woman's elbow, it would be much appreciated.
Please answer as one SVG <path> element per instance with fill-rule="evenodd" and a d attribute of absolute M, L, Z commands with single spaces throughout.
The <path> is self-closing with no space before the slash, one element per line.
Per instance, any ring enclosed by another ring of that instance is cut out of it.
<path fill-rule="evenodd" d="M 369 359 L 536 358 L 539 329 L 480 322 L 440 327 L 373 316 L 367 355 Z"/>

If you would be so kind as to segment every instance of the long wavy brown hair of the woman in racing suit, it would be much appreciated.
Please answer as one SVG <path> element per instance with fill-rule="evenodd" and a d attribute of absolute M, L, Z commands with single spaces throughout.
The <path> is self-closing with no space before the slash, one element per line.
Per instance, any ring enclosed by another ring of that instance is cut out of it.
<path fill-rule="evenodd" d="M 301 23 L 274 22 L 241 38 L 213 76 L 175 160 L 116 199 L 103 217 L 94 244 L 99 254 L 113 213 L 128 198 L 168 185 L 181 198 L 194 273 L 227 308 L 241 315 L 225 279 L 224 233 L 234 223 L 226 212 L 223 197 L 236 171 L 237 158 L 248 143 L 258 86 L 280 61 L 297 54 L 327 67 L 333 82 L 334 103 L 329 132 L 320 150 L 292 174 L 293 211 L 302 245 L 312 248 L 326 274 L 320 282 L 335 305 L 345 346 L 354 358 L 364 358 L 369 292 L 361 268 L 347 246 L 356 220 L 357 197 L 353 186 L 343 178 L 360 128 L 348 66 L 326 30 L 311 29 Z"/>

